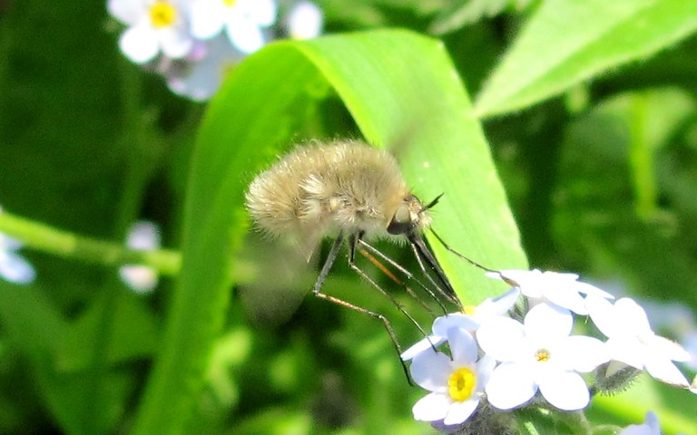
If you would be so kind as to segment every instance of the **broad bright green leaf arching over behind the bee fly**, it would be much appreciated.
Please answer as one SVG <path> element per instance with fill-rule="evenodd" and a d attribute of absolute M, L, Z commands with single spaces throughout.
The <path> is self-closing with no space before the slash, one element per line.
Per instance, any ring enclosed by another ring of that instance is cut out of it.
<path fill-rule="evenodd" d="M 182 431 L 221 332 L 231 265 L 248 230 L 244 192 L 290 146 L 328 86 L 368 141 L 397 145 L 418 195 L 446 192 L 434 213 L 441 236 L 486 265 L 525 267 L 481 127 L 441 43 L 405 31 L 272 43 L 231 74 L 201 126 L 182 273 L 135 433 Z M 501 291 L 500 283 L 435 248 L 466 303 Z"/>

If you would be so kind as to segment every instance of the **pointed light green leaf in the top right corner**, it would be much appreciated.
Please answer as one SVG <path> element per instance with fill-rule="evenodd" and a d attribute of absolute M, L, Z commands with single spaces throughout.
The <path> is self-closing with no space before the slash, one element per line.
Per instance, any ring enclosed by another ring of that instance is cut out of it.
<path fill-rule="evenodd" d="M 476 99 L 488 117 L 541 102 L 692 34 L 696 0 L 557 0 L 530 18 Z"/>

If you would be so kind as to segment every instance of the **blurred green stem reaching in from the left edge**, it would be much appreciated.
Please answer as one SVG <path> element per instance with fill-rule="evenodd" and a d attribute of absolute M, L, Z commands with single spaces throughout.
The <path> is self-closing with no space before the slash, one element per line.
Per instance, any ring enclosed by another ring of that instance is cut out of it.
<path fill-rule="evenodd" d="M 119 243 L 78 236 L 6 211 L 0 213 L 0 232 L 37 251 L 103 266 L 144 265 L 161 275 L 172 276 L 179 274 L 182 261 L 177 251 L 136 251 Z"/>

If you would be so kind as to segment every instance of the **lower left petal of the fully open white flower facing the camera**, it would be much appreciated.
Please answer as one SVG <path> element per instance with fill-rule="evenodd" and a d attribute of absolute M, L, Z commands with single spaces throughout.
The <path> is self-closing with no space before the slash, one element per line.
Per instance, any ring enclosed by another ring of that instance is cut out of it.
<path fill-rule="evenodd" d="M 521 366 L 504 362 L 491 373 L 486 383 L 486 399 L 499 410 L 511 410 L 535 396 L 537 385 L 531 372 Z"/>

